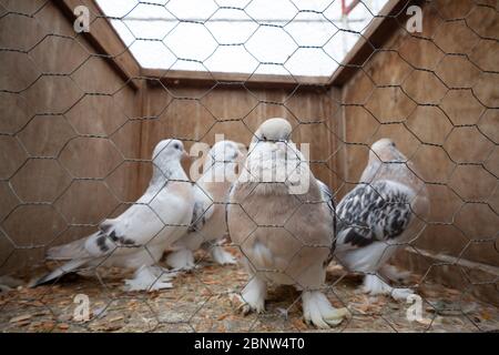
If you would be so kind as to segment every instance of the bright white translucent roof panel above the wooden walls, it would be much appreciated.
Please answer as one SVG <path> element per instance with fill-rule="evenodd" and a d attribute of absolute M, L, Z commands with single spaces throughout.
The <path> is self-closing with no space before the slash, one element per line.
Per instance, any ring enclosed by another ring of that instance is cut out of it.
<path fill-rule="evenodd" d="M 143 68 L 328 77 L 388 0 L 96 0 Z"/>

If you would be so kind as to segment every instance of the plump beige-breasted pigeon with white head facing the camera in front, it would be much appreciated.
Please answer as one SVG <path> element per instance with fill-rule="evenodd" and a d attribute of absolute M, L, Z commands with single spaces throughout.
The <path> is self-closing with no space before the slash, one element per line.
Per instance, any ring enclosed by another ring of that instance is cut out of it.
<path fill-rule="evenodd" d="M 251 276 L 237 298 L 244 312 L 259 313 L 267 283 L 294 285 L 303 291 L 305 321 L 327 328 L 347 315 L 320 291 L 334 247 L 334 213 L 327 187 L 314 178 L 291 133 L 284 119 L 265 121 L 230 192 L 228 232 Z"/>

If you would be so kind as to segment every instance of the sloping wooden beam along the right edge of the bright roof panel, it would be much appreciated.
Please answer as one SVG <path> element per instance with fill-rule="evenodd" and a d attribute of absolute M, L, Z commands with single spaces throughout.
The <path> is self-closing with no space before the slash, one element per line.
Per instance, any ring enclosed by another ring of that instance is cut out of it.
<path fill-rule="evenodd" d="M 406 9 L 410 4 L 422 4 L 422 0 L 389 0 L 366 29 L 363 38 L 355 43 L 330 77 L 327 85 L 343 87 L 360 69 L 365 61 L 378 49 L 383 48 L 390 36 L 405 23 L 408 16 Z"/>

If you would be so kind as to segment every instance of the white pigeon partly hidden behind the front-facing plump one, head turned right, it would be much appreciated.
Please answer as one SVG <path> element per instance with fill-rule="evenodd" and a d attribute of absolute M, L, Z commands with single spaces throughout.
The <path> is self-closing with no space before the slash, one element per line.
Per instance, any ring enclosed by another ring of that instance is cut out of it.
<path fill-rule="evenodd" d="M 166 263 L 175 270 L 193 268 L 193 252 L 201 246 L 210 247 L 213 260 L 220 265 L 236 263 L 218 242 L 227 231 L 225 202 L 232 182 L 237 178 L 235 169 L 244 158 L 241 143 L 220 141 L 207 153 L 203 174 L 194 185 L 192 224 L 166 257 Z"/>

